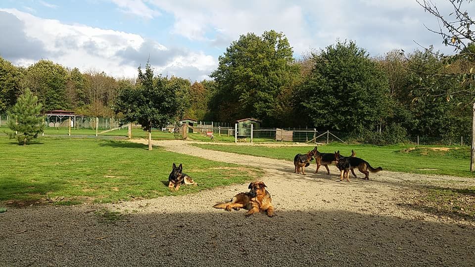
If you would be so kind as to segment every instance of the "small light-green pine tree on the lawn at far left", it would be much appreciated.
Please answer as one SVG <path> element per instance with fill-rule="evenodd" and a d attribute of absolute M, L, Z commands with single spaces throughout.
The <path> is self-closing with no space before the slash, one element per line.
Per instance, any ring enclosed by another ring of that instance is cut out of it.
<path fill-rule="evenodd" d="M 26 90 L 18 101 L 8 112 L 8 128 L 14 131 L 9 133 L 10 138 L 16 138 L 18 144 L 25 145 L 29 141 L 43 133 L 44 118 L 37 116 L 41 111 L 41 104 L 38 103 L 38 97 L 33 95 L 30 90 Z"/>

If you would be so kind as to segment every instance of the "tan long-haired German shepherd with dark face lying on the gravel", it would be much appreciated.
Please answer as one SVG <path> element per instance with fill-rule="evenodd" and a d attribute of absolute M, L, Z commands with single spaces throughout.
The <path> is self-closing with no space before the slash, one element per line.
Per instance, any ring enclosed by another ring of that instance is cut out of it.
<path fill-rule="evenodd" d="M 274 216 L 274 207 L 272 206 L 271 194 L 266 190 L 266 184 L 261 181 L 253 181 L 249 183 L 248 193 L 239 193 L 235 195 L 229 202 L 217 203 L 213 206 L 216 209 L 239 210 L 244 208 L 248 210 L 246 216 L 250 216 L 258 212 L 267 212 L 267 216 Z"/>

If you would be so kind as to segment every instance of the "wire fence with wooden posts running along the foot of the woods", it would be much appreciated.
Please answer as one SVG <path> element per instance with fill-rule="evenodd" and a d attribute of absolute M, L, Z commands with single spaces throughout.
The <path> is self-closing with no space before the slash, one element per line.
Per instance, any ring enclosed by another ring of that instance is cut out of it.
<path fill-rule="evenodd" d="M 7 130 L 7 114 L 0 114 L 0 128 Z M 252 128 L 252 130 L 251 130 Z M 153 139 L 181 139 L 182 128 L 170 126 L 152 130 Z M 238 131 L 236 131 L 238 130 Z M 362 141 L 351 134 L 318 131 L 316 129 L 298 128 L 253 128 L 250 124 L 221 123 L 199 121 L 189 126 L 187 134 L 190 139 L 215 140 L 223 142 L 292 142 L 292 143 L 370 143 L 384 144 L 377 137 Z M 97 134 L 97 135 L 96 135 Z M 51 136 L 112 136 L 128 137 L 128 124 L 122 125 L 117 118 L 76 116 L 71 118 L 45 117 L 45 133 Z M 377 136 L 377 135 L 375 135 Z M 147 138 L 147 133 L 137 124 L 132 124 L 132 138 Z M 446 138 L 430 137 L 425 135 L 406 136 L 401 142 L 414 145 L 449 145 L 470 146 L 471 136 L 450 136 Z"/>

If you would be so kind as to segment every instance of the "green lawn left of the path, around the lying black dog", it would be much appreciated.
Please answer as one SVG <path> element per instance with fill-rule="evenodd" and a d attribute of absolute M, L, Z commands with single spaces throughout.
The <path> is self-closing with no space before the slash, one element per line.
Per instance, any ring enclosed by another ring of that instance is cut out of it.
<path fill-rule="evenodd" d="M 262 171 L 124 141 L 39 138 L 26 146 L 0 136 L 0 202 L 75 204 L 180 195 L 252 180 Z M 172 163 L 199 186 L 168 190 Z"/>

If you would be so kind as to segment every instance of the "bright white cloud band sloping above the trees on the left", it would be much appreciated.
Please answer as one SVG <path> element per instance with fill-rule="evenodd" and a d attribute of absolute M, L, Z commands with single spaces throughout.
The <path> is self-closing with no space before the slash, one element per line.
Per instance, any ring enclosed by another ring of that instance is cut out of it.
<path fill-rule="evenodd" d="M 78 67 L 81 71 L 98 69 L 115 77 L 134 77 L 137 75 L 138 64 L 145 64 L 146 57 L 143 55 L 146 54 L 154 56 L 150 58 L 150 63 L 157 70 L 192 67 L 207 75 L 217 66 L 214 58 L 203 52 L 170 49 L 137 34 L 81 24 L 63 24 L 58 20 L 39 18 L 17 9 L 0 11 L 16 16 L 24 23 L 26 38 L 41 43 L 42 50 L 39 49 L 37 53 L 42 54 L 36 55 L 37 58 L 49 59 L 71 68 Z M 14 64 L 28 66 L 37 58 L 27 56 L 6 59 L 12 60 Z M 190 78 L 201 80 L 200 77 Z"/>

